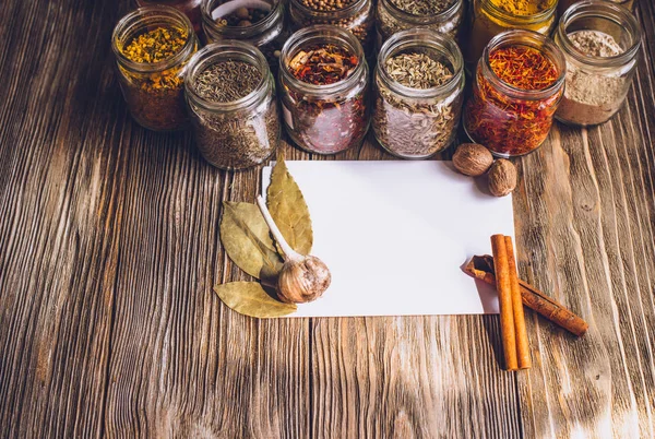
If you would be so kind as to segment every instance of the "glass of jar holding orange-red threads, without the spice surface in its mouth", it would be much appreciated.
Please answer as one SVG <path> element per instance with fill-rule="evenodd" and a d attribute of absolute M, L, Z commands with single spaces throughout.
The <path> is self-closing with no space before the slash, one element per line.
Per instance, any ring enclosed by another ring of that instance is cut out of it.
<path fill-rule="evenodd" d="M 541 90 L 522 90 L 503 82 L 491 69 L 496 49 L 522 47 L 538 50 L 555 67 L 552 83 Z M 535 151 L 548 137 L 563 94 L 565 61 L 550 38 L 529 31 L 497 35 L 485 48 L 475 73 L 473 95 L 464 106 L 464 129 L 476 143 L 497 157 Z"/>

